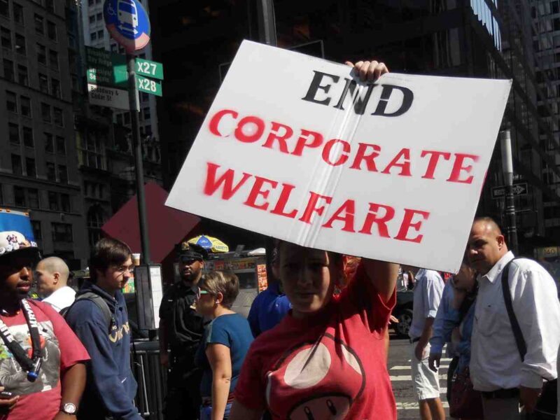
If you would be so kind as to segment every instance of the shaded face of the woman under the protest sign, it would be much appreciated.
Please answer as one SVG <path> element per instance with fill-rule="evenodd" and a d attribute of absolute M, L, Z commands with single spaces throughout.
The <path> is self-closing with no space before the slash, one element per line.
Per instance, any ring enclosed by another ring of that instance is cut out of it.
<path fill-rule="evenodd" d="M 326 251 L 284 242 L 279 247 L 279 274 L 297 318 L 330 302 L 335 281 L 342 277 L 342 263 L 330 261 Z"/>

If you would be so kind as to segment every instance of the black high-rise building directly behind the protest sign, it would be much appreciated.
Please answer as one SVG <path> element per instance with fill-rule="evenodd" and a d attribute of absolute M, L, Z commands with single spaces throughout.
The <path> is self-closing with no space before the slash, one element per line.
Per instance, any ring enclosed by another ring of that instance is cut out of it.
<path fill-rule="evenodd" d="M 543 208 L 545 203 L 557 206 L 560 197 L 543 174 L 558 175 L 560 169 L 552 151 L 545 150 L 540 141 L 551 139 L 552 132 L 538 111 L 542 96 L 536 82 L 538 57 L 533 53 L 527 1 L 268 3 L 273 3 L 274 13 L 264 19 L 260 0 L 151 2 L 152 19 L 159 22 L 153 25 L 155 59 L 164 64 L 167 76 L 167 94 L 158 102 L 159 129 L 165 138 L 165 188 L 172 187 L 241 41 L 260 41 L 267 34 L 273 39 L 272 32 L 281 48 L 320 45 L 306 52 L 335 62 L 376 58 L 396 72 L 511 78 L 503 128 L 511 130 L 515 182 L 528 183 L 528 192 L 515 199 L 521 248 L 532 253 L 535 246 L 558 241 L 556 233 L 547 229 Z M 272 21 L 269 27 L 263 23 L 267 20 Z M 549 146 L 556 150 L 557 143 L 556 139 Z M 500 159 L 496 146 L 479 214 L 505 223 L 503 198 L 494 199 L 491 194 L 492 188 L 504 185 Z M 453 203 L 442 197 L 442 205 Z"/>

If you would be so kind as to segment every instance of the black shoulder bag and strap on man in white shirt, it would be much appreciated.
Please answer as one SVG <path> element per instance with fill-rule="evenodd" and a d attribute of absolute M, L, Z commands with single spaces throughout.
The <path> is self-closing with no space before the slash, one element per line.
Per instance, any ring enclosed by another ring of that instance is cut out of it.
<path fill-rule="evenodd" d="M 521 257 L 519 257 L 521 258 Z M 513 260 L 518 260 L 519 258 L 514 258 Z M 528 258 L 526 258 L 528 259 Z M 525 360 L 525 355 L 527 353 L 527 344 L 521 328 L 519 327 L 519 322 L 517 322 L 517 317 L 513 311 L 512 305 L 512 293 L 510 290 L 510 265 L 512 263 L 507 262 L 505 267 L 503 267 L 502 272 L 502 292 L 503 300 L 505 302 L 505 309 L 507 309 L 507 316 L 510 318 L 510 324 L 512 325 L 513 335 L 515 337 L 515 342 L 517 344 L 517 351 L 519 351 L 519 356 L 521 356 L 521 361 Z M 533 412 L 532 419 L 542 419 L 542 420 L 554 420 L 556 419 L 556 409 L 557 409 L 557 393 L 558 381 L 554 379 L 552 381 L 545 381 L 542 386 L 542 394 L 538 398 L 535 411 Z"/>

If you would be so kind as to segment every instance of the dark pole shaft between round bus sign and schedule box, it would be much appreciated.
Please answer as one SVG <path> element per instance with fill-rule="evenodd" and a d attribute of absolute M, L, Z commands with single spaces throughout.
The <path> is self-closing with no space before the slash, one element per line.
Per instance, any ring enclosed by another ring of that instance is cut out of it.
<path fill-rule="evenodd" d="M 136 171 L 136 190 L 138 201 L 138 219 L 140 222 L 140 244 L 142 264 L 150 264 L 150 245 L 148 242 L 148 217 L 146 216 L 146 197 L 144 195 L 144 163 L 140 144 L 140 127 L 138 112 L 140 104 L 136 88 L 136 62 L 134 55 L 127 54 L 128 100 L 130 103 L 130 123 L 132 128 L 132 150 L 134 151 L 134 168 Z"/>

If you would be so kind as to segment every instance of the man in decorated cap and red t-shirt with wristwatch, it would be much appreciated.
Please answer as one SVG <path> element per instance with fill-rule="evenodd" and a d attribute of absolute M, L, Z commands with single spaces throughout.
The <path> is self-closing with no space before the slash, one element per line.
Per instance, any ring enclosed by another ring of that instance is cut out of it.
<path fill-rule="evenodd" d="M 84 346 L 55 309 L 27 298 L 39 258 L 29 216 L 0 209 L 1 420 L 75 419 L 85 386 Z"/>

